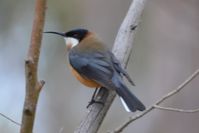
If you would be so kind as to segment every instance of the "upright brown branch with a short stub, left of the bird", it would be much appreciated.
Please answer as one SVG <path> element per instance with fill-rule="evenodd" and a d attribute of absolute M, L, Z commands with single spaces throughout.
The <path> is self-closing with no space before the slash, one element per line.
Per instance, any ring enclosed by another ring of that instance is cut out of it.
<path fill-rule="evenodd" d="M 39 93 L 45 83 L 37 78 L 45 8 L 46 0 L 36 0 L 31 43 L 25 61 L 26 95 L 20 133 L 32 133 Z"/>

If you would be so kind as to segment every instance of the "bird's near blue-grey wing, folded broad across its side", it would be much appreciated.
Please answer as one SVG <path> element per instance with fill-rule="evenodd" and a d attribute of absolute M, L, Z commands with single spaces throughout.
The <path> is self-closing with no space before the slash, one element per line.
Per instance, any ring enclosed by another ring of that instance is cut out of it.
<path fill-rule="evenodd" d="M 110 83 L 114 69 L 112 63 L 102 53 L 81 55 L 71 51 L 69 61 L 72 67 L 84 77 L 95 80 L 104 86 Z"/>

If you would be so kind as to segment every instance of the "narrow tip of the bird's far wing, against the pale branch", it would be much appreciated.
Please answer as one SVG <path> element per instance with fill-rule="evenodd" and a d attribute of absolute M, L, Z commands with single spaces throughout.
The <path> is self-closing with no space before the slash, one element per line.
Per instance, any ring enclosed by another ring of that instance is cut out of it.
<path fill-rule="evenodd" d="M 128 75 L 128 73 L 126 72 L 126 70 L 124 68 L 122 68 L 119 60 L 117 60 L 117 58 L 115 57 L 115 55 L 111 52 L 109 52 L 111 58 L 112 58 L 112 62 L 113 62 L 113 66 L 116 69 L 116 71 L 120 74 L 123 74 L 126 79 L 133 85 L 135 86 L 134 82 L 132 81 L 131 77 Z"/>

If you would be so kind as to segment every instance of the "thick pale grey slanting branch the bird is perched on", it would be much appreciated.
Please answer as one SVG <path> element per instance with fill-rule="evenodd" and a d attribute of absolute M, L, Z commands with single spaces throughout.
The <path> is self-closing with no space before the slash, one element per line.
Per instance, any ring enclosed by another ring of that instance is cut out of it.
<path fill-rule="evenodd" d="M 124 66 L 127 65 L 132 51 L 135 29 L 139 23 L 145 1 L 146 0 L 133 0 L 115 40 L 112 51 Z M 80 126 L 75 130 L 75 133 L 96 133 L 115 96 L 115 91 L 107 91 L 105 88 L 101 88 L 97 94 L 97 101 L 102 101 L 105 104 L 103 106 L 100 104 L 92 104 Z"/>

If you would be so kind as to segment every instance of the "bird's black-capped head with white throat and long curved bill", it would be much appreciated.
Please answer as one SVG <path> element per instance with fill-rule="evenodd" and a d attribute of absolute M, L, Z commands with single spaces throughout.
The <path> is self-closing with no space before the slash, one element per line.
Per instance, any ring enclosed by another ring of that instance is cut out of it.
<path fill-rule="evenodd" d="M 67 49 L 78 45 L 90 32 L 86 29 L 74 29 L 68 32 L 46 31 L 44 33 L 56 34 L 64 37 Z"/>

